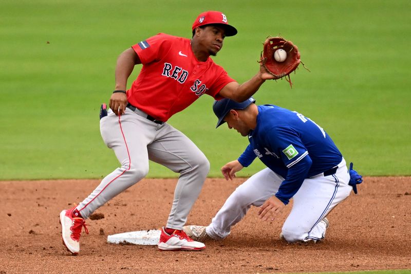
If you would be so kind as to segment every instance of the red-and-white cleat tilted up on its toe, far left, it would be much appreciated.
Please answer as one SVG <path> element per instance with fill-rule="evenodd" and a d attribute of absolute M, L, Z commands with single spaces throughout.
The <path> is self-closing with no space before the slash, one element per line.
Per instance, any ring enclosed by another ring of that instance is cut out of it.
<path fill-rule="evenodd" d="M 72 217 L 74 209 L 76 208 L 73 207 L 60 212 L 60 224 L 62 227 L 61 237 L 63 244 L 71 254 L 77 255 L 80 252 L 81 230 L 84 227 L 86 234 L 88 234 L 88 229 L 86 227 L 86 220 L 79 217 Z"/>

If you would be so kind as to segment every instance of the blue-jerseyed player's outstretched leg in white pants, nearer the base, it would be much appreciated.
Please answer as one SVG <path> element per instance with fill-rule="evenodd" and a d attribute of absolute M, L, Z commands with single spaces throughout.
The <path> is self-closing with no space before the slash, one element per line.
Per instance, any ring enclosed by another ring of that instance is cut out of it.
<path fill-rule="evenodd" d="M 251 176 L 228 197 L 206 228 L 207 234 L 215 240 L 226 238 L 230 234 L 231 227 L 246 215 L 250 207 L 263 205 L 278 191 L 283 180 L 282 176 L 269 168 Z"/>

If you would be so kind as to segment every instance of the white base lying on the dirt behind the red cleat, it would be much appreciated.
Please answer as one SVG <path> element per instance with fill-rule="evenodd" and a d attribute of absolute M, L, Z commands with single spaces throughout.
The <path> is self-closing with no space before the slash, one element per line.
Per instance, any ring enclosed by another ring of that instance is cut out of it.
<path fill-rule="evenodd" d="M 107 236 L 109 244 L 157 245 L 161 230 L 140 230 Z"/>

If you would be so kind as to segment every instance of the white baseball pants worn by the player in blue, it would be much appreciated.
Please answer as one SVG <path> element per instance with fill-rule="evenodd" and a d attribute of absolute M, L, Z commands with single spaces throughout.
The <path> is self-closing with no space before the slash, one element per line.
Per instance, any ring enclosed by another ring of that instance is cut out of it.
<path fill-rule="evenodd" d="M 320 221 L 350 194 L 350 176 L 343 159 L 333 175 L 316 175 L 304 180 L 293 197 L 293 206 L 283 225 L 283 236 L 288 242 L 321 240 L 326 227 Z M 278 191 L 284 180 L 269 168 L 251 176 L 228 197 L 226 203 L 206 228 L 216 240 L 226 238 L 231 227 L 237 224 L 251 208 L 260 207 Z"/>

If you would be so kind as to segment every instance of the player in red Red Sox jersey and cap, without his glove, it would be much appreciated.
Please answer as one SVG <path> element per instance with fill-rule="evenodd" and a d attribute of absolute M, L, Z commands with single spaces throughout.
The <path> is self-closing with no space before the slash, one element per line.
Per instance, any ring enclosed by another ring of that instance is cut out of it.
<path fill-rule="evenodd" d="M 133 186 L 148 173 L 148 160 L 180 173 L 174 201 L 158 248 L 201 250 L 182 228 L 210 170 L 206 156 L 184 134 L 166 121 L 201 95 L 244 101 L 265 80 L 273 79 L 263 66 L 245 83 L 238 84 L 210 56 L 222 48 L 226 36 L 237 30 L 218 11 L 201 13 L 192 26 L 192 39 L 159 33 L 126 49 L 117 60 L 116 88 L 108 115 L 100 120 L 101 136 L 114 150 L 121 167 L 108 174 L 77 207 L 60 213 L 63 243 L 78 254 L 85 219 L 108 200 Z M 126 91 L 136 64 L 138 78 Z"/>

